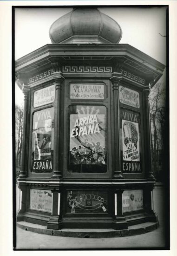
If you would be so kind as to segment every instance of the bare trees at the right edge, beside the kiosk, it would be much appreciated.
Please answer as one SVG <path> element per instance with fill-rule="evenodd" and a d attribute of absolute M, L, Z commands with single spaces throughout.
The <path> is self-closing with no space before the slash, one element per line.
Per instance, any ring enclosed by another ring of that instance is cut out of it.
<path fill-rule="evenodd" d="M 157 180 L 163 178 L 166 126 L 165 96 L 164 83 L 157 83 L 150 93 L 152 167 Z"/>

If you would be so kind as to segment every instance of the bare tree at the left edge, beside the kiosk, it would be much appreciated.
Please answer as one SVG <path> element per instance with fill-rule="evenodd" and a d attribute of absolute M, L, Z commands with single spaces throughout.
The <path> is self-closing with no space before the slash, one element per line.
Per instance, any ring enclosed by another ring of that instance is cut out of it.
<path fill-rule="evenodd" d="M 16 143 L 16 168 L 21 166 L 21 150 L 23 137 L 23 107 L 15 106 L 15 143 Z"/>

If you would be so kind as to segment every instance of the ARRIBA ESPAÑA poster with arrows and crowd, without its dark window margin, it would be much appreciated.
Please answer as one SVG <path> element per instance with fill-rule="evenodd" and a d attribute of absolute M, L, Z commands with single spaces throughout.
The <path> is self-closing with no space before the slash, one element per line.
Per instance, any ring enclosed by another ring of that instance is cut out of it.
<path fill-rule="evenodd" d="M 106 164 L 105 114 L 98 114 L 100 109 L 79 106 L 78 114 L 70 115 L 70 164 Z"/>

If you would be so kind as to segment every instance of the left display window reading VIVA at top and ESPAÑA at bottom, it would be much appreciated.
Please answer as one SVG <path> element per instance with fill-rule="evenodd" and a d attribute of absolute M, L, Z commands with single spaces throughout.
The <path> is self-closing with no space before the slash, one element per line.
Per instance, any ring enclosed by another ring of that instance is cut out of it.
<path fill-rule="evenodd" d="M 51 172 L 53 158 L 54 109 L 46 108 L 33 115 L 32 171 Z"/>

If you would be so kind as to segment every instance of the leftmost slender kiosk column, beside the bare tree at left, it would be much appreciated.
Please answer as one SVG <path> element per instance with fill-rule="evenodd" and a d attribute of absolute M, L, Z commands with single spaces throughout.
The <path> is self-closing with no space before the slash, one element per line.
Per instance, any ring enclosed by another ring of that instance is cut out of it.
<path fill-rule="evenodd" d="M 27 174 L 27 152 L 28 152 L 28 137 L 29 137 L 29 130 L 28 130 L 28 117 L 29 117 L 29 93 L 30 89 L 23 85 L 22 92 L 24 94 L 24 109 L 23 109 L 23 138 L 22 138 L 22 161 L 21 161 L 21 169 L 19 179 L 26 177 Z"/>

